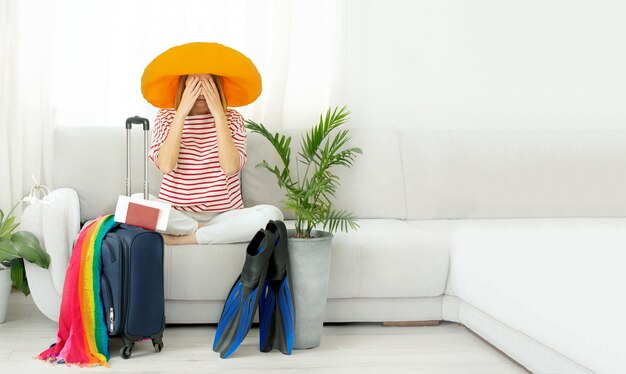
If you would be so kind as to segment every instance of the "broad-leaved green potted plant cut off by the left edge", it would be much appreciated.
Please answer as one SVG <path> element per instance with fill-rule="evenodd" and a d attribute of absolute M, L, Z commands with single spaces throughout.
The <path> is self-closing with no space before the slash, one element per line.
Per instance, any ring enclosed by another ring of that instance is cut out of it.
<path fill-rule="evenodd" d="M 41 248 L 39 240 L 28 231 L 15 231 L 19 226 L 13 215 L 18 202 L 5 216 L 0 209 L 0 323 L 6 319 L 11 286 L 30 294 L 24 270 L 24 260 L 44 269 L 50 266 L 50 256 Z"/>

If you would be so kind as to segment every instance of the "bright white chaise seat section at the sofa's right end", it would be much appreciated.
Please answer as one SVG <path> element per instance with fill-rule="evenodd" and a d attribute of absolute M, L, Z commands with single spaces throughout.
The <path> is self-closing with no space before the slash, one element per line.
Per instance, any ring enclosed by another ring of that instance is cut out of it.
<path fill-rule="evenodd" d="M 446 234 L 463 301 L 594 372 L 626 372 L 626 218 L 412 224 Z"/>

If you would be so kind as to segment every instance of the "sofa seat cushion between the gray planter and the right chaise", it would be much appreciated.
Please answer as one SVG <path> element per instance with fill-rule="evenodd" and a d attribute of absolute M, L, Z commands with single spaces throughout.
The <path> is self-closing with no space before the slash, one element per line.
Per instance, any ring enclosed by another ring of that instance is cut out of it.
<path fill-rule="evenodd" d="M 443 294 L 448 250 L 434 234 L 395 219 L 362 219 L 333 238 L 328 298 Z"/>

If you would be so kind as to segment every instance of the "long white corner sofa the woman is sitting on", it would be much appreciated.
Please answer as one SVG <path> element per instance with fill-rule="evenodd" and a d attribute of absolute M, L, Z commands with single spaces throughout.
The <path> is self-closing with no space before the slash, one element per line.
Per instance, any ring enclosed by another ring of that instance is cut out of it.
<path fill-rule="evenodd" d="M 287 133 L 297 149 L 301 130 Z M 333 240 L 326 321 L 455 321 L 533 372 L 626 372 L 626 130 L 351 134 L 364 154 L 338 170 L 337 205 L 360 229 Z M 52 187 L 77 192 L 82 221 L 112 212 L 124 193 L 124 130 L 54 136 Z M 251 134 L 248 155 L 245 205 L 281 206 L 273 176 L 254 167 L 278 162 L 271 146 Z M 217 322 L 244 247 L 166 247 L 168 322 Z M 48 310 L 37 288 L 60 294 L 61 268 L 32 285 Z"/>

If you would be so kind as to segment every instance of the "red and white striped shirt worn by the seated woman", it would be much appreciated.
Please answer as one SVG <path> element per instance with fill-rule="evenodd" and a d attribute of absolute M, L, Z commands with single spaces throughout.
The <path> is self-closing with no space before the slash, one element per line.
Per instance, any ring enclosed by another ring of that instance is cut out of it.
<path fill-rule="evenodd" d="M 156 165 L 163 142 L 174 120 L 174 109 L 157 114 L 148 157 Z M 236 110 L 226 111 L 228 127 L 239 151 L 239 170 L 246 162 L 246 129 Z M 228 177 L 220 166 L 215 119 L 211 114 L 187 116 L 180 141 L 178 163 L 171 173 L 163 174 L 159 199 L 177 210 L 222 212 L 243 208 L 239 172 Z"/>

